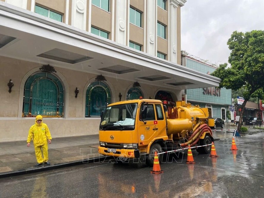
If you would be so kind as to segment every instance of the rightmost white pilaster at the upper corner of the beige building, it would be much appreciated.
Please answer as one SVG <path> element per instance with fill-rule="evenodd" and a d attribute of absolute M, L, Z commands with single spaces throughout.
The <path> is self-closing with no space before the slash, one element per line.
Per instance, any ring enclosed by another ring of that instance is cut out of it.
<path fill-rule="evenodd" d="M 177 63 L 177 1 L 170 1 L 170 18 L 169 18 L 169 40 L 170 40 L 170 60 L 171 62 Z"/>

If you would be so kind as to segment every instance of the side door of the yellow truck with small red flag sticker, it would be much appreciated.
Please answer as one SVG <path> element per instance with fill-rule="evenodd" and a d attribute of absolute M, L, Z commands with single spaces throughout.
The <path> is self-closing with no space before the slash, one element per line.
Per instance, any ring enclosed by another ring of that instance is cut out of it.
<path fill-rule="evenodd" d="M 141 104 L 142 105 L 142 104 Z M 147 106 L 147 116 L 143 121 L 139 121 L 138 124 L 138 138 L 139 142 L 144 142 L 144 145 L 148 145 L 153 138 L 158 136 L 158 121 L 155 117 L 154 104 L 144 104 Z M 142 108 L 142 107 L 141 107 Z M 141 115 L 140 115 L 141 117 Z"/>

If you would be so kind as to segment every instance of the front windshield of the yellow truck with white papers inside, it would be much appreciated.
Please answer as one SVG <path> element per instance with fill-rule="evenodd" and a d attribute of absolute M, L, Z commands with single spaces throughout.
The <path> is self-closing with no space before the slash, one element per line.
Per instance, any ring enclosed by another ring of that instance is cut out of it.
<path fill-rule="evenodd" d="M 100 130 L 133 130 L 137 103 L 107 107 L 100 123 Z"/>

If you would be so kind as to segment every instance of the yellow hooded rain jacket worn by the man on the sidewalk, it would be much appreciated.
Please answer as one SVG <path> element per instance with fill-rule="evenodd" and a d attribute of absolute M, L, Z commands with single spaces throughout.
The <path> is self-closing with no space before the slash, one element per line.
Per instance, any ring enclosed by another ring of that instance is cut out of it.
<path fill-rule="evenodd" d="M 51 140 L 50 130 L 47 124 L 41 122 L 40 124 L 37 123 L 35 120 L 35 124 L 32 125 L 28 132 L 28 140 L 30 142 L 33 138 L 34 146 L 41 146 L 47 144 L 47 140 Z"/>

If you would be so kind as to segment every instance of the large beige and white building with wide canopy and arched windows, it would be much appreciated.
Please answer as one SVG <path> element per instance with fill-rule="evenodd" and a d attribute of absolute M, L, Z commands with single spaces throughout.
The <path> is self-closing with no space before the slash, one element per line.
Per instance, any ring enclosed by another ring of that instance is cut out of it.
<path fill-rule="evenodd" d="M 97 134 L 109 103 L 219 85 L 181 65 L 185 2 L 0 0 L 0 142 L 38 114 L 53 137 Z"/>

